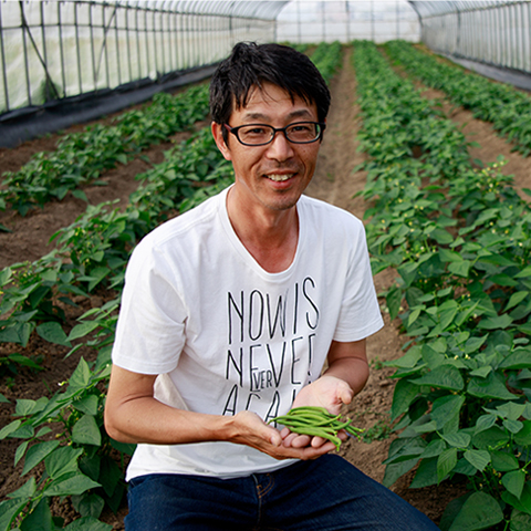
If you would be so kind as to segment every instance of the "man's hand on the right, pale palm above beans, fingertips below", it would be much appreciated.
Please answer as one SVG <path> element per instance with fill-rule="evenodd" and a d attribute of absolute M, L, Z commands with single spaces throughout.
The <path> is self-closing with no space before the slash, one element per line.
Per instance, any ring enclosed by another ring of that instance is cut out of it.
<path fill-rule="evenodd" d="M 343 404 L 350 404 L 353 396 L 354 392 L 345 381 L 324 374 L 301 389 L 292 407 L 317 406 L 324 407 L 332 415 L 339 415 L 341 413 L 341 406 Z M 322 449 L 323 446 L 332 445 L 331 450 L 335 449 L 335 446 L 323 437 L 299 435 L 290 431 L 288 428 L 282 429 L 281 436 L 282 446 L 287 448 L 312 447 Z M 341 440 L 346 440 L 346 431 L 341 430 L 337 437 L 340 437 Z"/>

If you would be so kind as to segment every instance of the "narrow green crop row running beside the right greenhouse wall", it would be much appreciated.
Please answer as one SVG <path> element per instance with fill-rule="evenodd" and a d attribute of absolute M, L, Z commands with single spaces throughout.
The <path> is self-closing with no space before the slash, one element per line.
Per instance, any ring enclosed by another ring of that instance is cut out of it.
<path fill-rule="evenodd" d="M 531 97 L 511 85 L 440 62 L 404 41 L 391 41 L 386 50 L 428 86 L 444 91 L 451 102 L 469 108 L 473 116 L 494 128 L 524 156 L 531 153 Z"/>

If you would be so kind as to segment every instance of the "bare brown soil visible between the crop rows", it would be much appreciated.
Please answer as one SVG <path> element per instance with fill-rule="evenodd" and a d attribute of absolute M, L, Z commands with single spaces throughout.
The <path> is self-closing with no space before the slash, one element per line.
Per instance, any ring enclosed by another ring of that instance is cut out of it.
<path fill-rule="evenodd" d="M 425 96 L 438 100 L 442 108 L 457 124 L 462 125 L 464 132 L 470 140 L 477 142 L 481 147 L 471 149 L 471 157 L 483 163 L 496 160 L 502 154 L 508 164 L 504 173 L 514 176 L 514 184 L 520 191 L 531 188 L 531 158 L 523 158 L 518 153 L 511 152 L 511 146 L 497 136 L 492 127 L 475 119 L 468 111 L 448 104 L 440 92 L 425 90 Z M 356 133 L 360 127 L 358 107 L 355 102 L 356 82 L 351 66 L 348 54 L 344 56 L 342 71 L 332 81 L 332 107 L 327 118 L 327 129 L 322 143 L 320 162 L 314 179 L 308 188 L 308 195 L 317 197 L 344 208 L 363 219 L 368 205 L 355 194 L 365 185 L 364 171 L 355 171 L 357 164 L 364 160 L 364 155 L 356 150 Z M 105 118 L 108 119 L 108 118 Z M 205 124 L 199 124 L 205 125 Z M 80 126 L 66 132 L 79 131 Z M 129 194 L 136 188 L 135 176 L 146 171 L 152 165 L 163 160 L 164 152 L 174 143 L 184 139 L 188 133 L 181 133 L 168 138 L 168 142 L 143 153 L 143 157 L 122 165 L 103 176 L 107 186 L 86 187 L 88 201 L 96 205 L 104 200 L 119 199 L 118 205 L 126 205 Z M 41 150 L 51 150 L 55 146 L 59 135 L 49 135 L 45 138 L 34 139 L 13 149 L 0 149 L 0 168 L 2 171 L 17 170 L 25 164 L 32 154 Z M 529 199 L 528 196 L 522 197 Z M 75 198 L 66 197 L 62 201 L 51 202 L 43 209 L 35 209 L 25 217 L 20 217 L 13 211 L 0 212 L 0 223 L 8 227 L 11 232 L 0 232 L 0 269 L 7 266 L 33 261 L 52 250 L 49 244 L 50 237 L 60 228 L 72 223 L 83 214 L 86 205 Z M 378 293 L 385 291 L 394 281 L 392 271 L 384 271 L 375 277 Z M 95 295 L 86 305 L 101 305 L 108 296 L 106 293 Z M 382 462 L 387 457 L 391 441 L 395 437 L 389 429 L 389 412 L 393 398 L 394 383 L 389 378 L 393 371 L 385 367 L 383 362 L 395 360 L 402 354 L 404 337 L 400 336 L 397 323 L 389 322 L 388 314 L 382 300 L 382 308 L 386 326 L 369 337 L 367 343 L 368 358 L 372 367 L 371 376 L 365 388 L 345 408 L 351 417 L 355 418 L 356 426 L 366 428 L 372 434 L 371 440 L 357 441 L 350 439 L 342 445 L 340 450 L 346 459 L 357 466 L 362 471 L 377 481 L 384 478 L 385 466 Z M 85 311 L 86 308 L 79 311 Z M 71 315 L 75 319 L 75 315 Z M 13 345 L 0 345 L 0 356 L 13 352 Z M 40 356 L 44 371 L 35 374 L 30 371 L 20 371 L 18 375 L 0 383 L 0 393 L 11 404 L 17 398 L 39 398 L 50 395 L 60 382 L 67 379 L 75 368 L 81 355 L 77 352 L 64 360 L 66 348 L 44 343 L 39 337 L 32 337 L 29 346 L 21 354 Z M 13 407 L 11 404 L 0 404 L 0 427 L 11 420 Z M 21 464 L 13 468 L 14 450 L 18 441 L 4 440 L 1 442 L 0 452 L 0 499 L 20 487 L 27 478 L 20 478 Z M 438 487 L 424 489 L 409 489 L 408 485 L 414 471 L 400 478 L 392 490 L 425 512 L 436 523 L 445 507 L 454 498 L 464 493 L 464 487 L 444 482 Z M 66 520 L 75 518 L 69 500 L 54 507 L 54 511 Z M 105 520 L 113 524 L 113 529 L 123 528 L 123 518 L 126 513 L 123 507 L 117 514 L 105 514 Z"/>

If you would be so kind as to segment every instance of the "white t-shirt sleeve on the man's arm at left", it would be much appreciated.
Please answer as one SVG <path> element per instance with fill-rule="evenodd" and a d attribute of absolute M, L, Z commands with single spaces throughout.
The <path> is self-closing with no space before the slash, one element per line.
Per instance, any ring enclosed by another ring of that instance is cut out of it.
<path fill-rule="evenodd" d="M 140 374 L 173 371 L 185 344 L 186 316 L 171 266 L 140 242 L 127 264 L 113 363 Z"/>

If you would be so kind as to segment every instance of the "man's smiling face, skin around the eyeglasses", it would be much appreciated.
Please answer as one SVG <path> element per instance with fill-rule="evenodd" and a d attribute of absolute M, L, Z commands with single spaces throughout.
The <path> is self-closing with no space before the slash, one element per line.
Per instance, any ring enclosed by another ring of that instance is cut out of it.
<path fill-rule="evenodd" d="M 262 90 L 251 92 L 246 107 L 232 111 L 228 125 L 285 127 L 295 122 L 317 122 L 315 104 L 299 97 L 292 101 L 282 88 L 264 83 Z M 283 133 L 277 133 L 266 146 L 243 146 L 232 134 L 226 144 L 221 128 L 222 125 L 212 124 L 219 149 L 235 167 L 236 196 L 244 206 L 268 210 L 293 207 L 312 179 L 321 143 L 292 144 Z"/>

